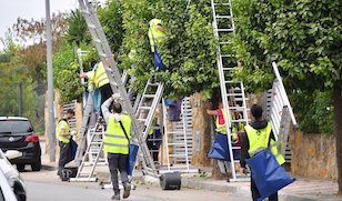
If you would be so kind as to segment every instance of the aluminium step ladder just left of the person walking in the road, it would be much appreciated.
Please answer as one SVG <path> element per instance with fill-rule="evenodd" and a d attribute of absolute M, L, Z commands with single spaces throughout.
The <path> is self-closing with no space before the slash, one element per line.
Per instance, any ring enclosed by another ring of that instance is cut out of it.
<path fill-rule="evenodd" d="M 103 124 L 97 123 L 95 128 L 89 130 L 90 141 L 88 143 L 86 153 L 83 154 L 81 165 L 78 168 L 76 178 L 71 178 L 70 181 L 97 181 L 93 177 L 94 170 L 102 155 L 102 160 L 105 159 L 103 148 Z"/>

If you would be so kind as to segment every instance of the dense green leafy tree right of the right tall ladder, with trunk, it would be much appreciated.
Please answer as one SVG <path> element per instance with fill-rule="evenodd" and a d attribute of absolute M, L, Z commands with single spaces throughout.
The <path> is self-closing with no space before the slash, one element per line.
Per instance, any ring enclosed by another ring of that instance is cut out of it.
<path fill-rule="evenodd" d="M 336 134 L 339 194 L 342 194 L 342 2 L 339 0 L 233 0 L 238 72 L 250 90 L 269 86 L 271 57 L 294 96 L 329 92 Z M 308 94 L 308 93 L 306 93 Z"/>

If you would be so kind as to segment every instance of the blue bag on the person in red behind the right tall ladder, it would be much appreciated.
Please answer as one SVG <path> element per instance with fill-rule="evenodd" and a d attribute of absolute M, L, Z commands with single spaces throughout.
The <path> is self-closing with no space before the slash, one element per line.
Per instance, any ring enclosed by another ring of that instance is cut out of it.
<path fill-rule="evenodd" d="M 234 160 L 240 159 L 240 150 L 233 150 Z M 227 134 L 217 133 L 215 140 L 212 143 L 210 151 L 207 155 L 210 159 L 222 160 L 222 161 L 231 161 L 228 148 L 228 138 Z"/>

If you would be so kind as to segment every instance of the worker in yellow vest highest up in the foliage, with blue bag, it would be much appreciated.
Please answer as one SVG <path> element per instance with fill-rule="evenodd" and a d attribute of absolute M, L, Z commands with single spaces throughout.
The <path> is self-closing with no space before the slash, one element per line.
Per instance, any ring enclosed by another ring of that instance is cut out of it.
<path fill-rule="evenodd" d="M 160 19 L 152 19 L 150 21 L 149 39 L 151 44 L 151 51 L 154 57 L 154 70 L 165 70 L 165 66 L 162 62 L 161 56 L 159 54 L 159 46 L 165 38 L 167 29 Z"/>

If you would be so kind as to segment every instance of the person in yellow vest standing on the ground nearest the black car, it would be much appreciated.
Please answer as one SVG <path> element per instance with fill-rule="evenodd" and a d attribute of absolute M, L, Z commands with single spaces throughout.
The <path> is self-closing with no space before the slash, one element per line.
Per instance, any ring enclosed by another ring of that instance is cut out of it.
<path fill-rule="evenodd" d="M 64 169 L 64 165 L 72 160 L 70 145 L 71 133 L 68 120 L 70 120 L 73 115 L 73 110 L 69 109 L 67 111 L 67 115 L 61 119 L 56 127 L 56 134 L 60 147 L 58 175 L 61 175 L 61 171 Z"/>

